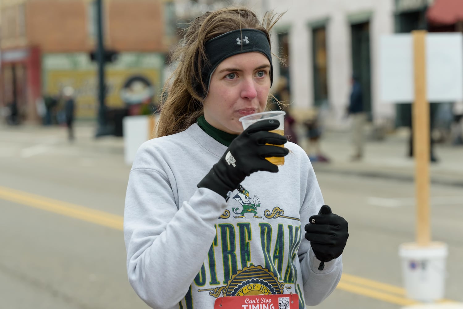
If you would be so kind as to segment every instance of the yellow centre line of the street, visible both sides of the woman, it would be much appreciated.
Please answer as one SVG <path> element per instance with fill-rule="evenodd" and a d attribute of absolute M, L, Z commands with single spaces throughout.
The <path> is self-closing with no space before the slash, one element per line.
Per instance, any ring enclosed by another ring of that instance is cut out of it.
<path fill-rule="evenodd" d="M 99 224 L 111 229 L 123 229 L 123 217 L 113 215 L 108 212 L 94 210 L 88 207 L 83 207 L 52 198 L 46 198 L 40 195 L 22 192 L 3 186 L 0 186 L 0 198 L 37 209 L 50 211 L 63 216 L 69 216 L 86 222 Z M 419 304 L 419 302 L 405 298 L 405 289 L 401 287 L 385 284 L 367 278 L 357 277 L 346 273 L 342 274 L 341 281 L 339 282 L 337 289 L 365 297 L 375 298 L 388 303 L 398 304 L 400 306 Z M 453 303 L 454 301 L 443 299 L 440 302 Z"/>

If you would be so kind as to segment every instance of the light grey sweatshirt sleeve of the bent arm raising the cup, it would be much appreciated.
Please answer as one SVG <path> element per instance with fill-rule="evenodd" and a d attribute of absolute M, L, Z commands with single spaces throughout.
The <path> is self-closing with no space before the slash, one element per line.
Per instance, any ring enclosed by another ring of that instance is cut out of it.
<path fill-rule="evenodd" d="M 185 297 L 225 207 L 225 199 L 206 188 L 177 207 L 161 169 L 132 167 L 124 211 L 127 273 L 150 307 L 171 308 Z"/>

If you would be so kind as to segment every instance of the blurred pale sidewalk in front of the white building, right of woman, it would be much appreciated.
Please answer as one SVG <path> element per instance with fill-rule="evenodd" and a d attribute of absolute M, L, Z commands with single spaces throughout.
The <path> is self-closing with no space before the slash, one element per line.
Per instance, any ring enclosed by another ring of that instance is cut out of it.
<path fill-rule="evenodd" d="M 330 163 L 313 162 L 316 173 L 338 173 L 413 181 L 415 162 L 407 156 L 408 132 L 396 131 L 382 141 L 366 141 L 361 161 L 350 161 L 349 133 L 325 132 L 321 149 Z M 430 163 L 431 182 L 463 186 L 463 147 L 435 144 L 437 163 Z"/>

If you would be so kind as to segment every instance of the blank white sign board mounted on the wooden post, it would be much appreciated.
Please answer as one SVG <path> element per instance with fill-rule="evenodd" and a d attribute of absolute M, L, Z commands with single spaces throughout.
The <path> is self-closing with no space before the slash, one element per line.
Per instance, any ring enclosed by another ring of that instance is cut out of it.
<path fill-rule="evenodd" d="M 463 100 L 463 34 L 426 34 L 426 84 L 430 102 Z M 379 52 L 380 100 L 414 101 L 413 37 L 384 35 Z"/>

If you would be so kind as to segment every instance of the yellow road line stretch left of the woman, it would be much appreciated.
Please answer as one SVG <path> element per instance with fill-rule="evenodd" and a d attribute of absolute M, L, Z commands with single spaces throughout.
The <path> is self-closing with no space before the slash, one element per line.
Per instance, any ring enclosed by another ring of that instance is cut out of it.
<path fill-rule="evenodd" d="M 94 210 L 76 204 L 66 203 L 52 198 L 45 198 L 40 195 L 13 190 L 0 186 L 0 198 L 18 204 L 38 208 L 69 216 L 75 219 L 96 223 L 112 229 L 123 229 L 123 217 L 113 215 L 104 211 Z"/>

